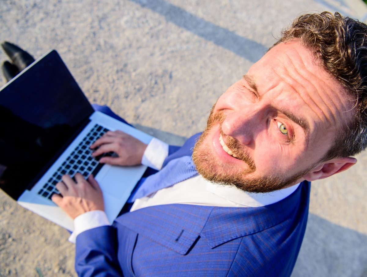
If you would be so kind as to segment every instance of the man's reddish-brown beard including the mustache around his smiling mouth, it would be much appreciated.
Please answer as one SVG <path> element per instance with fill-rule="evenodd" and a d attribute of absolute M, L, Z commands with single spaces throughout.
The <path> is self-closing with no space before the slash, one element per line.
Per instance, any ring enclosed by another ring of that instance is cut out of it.
<path fill-rule="evenodd" d="M 215 104 L 214 104 L 215 106 Z M 196 165 L 196 170 L 208 181 L 219 185 L 235 186 L 241 190 L 251 193 L 268 193 L 284 187 L 293 185 L 299 178 L 308 173 L 311 168 L 293 174 L 292 176 L 281 179 L 279 176 L 261 176 L 259 178 L 249 178 L 251 172 L 256 171 L 254 160 L 248 155 L 243 145 L 231 136 L 226 136 L 226 145 L 233 153 L 236 153 L 237 159 L 244 161 L 243 170 L 237 173 L 233 171 L 235 165 L 217 161 L 211 153 L 209 134 L 214 125 L 219 123 L 222 136 L 222 123 L 225 120 L 225 114 L 222 111 L 214 113 L 214 106 L 208 117 L 207 126 L 195 143 L 192 159 Z M 218 138 L 219 139 L 219 138 Z M 285 174 L 282 174 L 285 175 Z"/>

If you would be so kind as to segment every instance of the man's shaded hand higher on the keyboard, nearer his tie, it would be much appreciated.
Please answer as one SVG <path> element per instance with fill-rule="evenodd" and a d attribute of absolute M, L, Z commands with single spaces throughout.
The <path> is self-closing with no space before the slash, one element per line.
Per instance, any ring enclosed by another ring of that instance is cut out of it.
<path fill-rule="evenodd" d="M 103 153 L 115 152 L 118 157 L 103 157 L 100 163 L 113 165 L 138 165 L 141 164 L 144 151 L 148 145 L 139 141 L 131 135 L 121 131 L 108 131 L 101 138 L 97 139 L 91 149 L 96 147 L 92 155 L 97 157 Z"/>

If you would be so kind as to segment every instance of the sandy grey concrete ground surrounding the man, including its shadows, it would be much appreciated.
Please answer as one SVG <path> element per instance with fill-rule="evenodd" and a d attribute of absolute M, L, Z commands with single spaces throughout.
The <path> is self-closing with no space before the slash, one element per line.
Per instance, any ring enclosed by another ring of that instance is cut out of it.
<path fill-rule="evenodd" d="M 57 49 L 91 102 L 181 144 L 203 130 L 218 96 L 283 26 L 324 10 L 367 15 L 360 0 L 2 0 L 0 40 L 34 57 Z M 367 276 L 367 154 L 357 158 L 350 170 L 313 183 L 292 276 Z M 0 276 L 75 276 L 67 239 L 0 192 Z"/>

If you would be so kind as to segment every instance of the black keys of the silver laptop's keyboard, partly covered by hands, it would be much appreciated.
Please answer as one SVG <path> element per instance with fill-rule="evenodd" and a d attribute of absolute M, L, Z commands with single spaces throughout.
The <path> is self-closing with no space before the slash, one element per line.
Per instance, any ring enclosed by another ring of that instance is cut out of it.
<path fill-rule="evenodd" d="M 89 147 L 107 131 L 109 130 L 103 128 L 101 125 L 95 124 L 79 145 L 75 147 L 70 156 L 63 161 L 52 177 L 48 179 L 47 183 L 44 184 L 38 194 L 51 200 L 52 194 L 59 193 L 55 186 L 61 181 L 61 177 L 65 174 L 74 177 L 74 175 L 79 172 L 86 179 L 92 173 L 93 175 L 97 174 L 102 167 L 102 164 L 99 164 L 98 160 L 105 156 L 112 156 L 113 152 L 93 157 L 91 154 L 94 150 L 91 150 Z"/>

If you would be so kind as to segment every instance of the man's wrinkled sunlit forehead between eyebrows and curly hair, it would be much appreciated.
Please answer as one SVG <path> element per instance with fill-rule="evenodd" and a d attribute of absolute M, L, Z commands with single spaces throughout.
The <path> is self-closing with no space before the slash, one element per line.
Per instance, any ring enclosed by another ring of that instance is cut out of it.
<path fill-rule="evenodd" d="M 355 101 L 298 41 L 276 45 L 247 74 L 260 95 L 306 118 L 310 131 L 335 130 L 352 119 Z"/>

